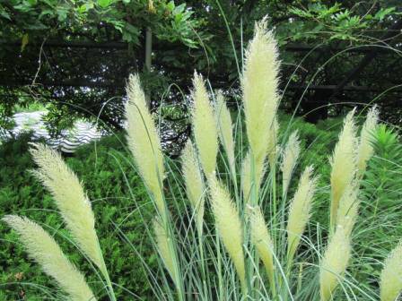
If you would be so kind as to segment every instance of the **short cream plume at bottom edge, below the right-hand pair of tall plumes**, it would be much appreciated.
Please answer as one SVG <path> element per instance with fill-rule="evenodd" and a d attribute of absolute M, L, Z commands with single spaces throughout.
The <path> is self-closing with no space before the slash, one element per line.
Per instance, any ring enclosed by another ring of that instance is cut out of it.
<path fill-rule="evenodd" d="M 344 228 L 336 228 L 319 266 L 319 289 L 321 301 L 332 299 L 335 288 L 342 280 L 349 262 L 352 246 Z"/>

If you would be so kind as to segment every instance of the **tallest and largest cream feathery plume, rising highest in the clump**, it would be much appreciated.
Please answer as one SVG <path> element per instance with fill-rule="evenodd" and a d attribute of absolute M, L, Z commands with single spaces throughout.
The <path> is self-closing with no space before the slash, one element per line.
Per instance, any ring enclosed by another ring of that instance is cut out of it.
<path fill-rule="evenodd" d="M 276 41 L 264 18 L 256 23 L 241 79 L 247 135 L 256 158 L 265 156 L 268 148 L 269 139 L 265 137 L 273 125 L 279 102 L 278 71 Z"/>

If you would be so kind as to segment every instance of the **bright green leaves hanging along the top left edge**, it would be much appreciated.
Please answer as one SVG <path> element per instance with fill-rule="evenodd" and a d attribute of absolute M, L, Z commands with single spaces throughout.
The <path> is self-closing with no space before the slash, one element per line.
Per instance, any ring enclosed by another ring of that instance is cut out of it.
<path fill-rule="evenodd" d="M 192 13 L 186 4 L 176 5 L 173 1 L 10 1 L 0 4 L 0 37 L 20 38 L 23 51 L 30 43 L 40 43 L 40 36 L 55 34 L 57 30 L 80 32 L 80 27 L 85 25 L 87 34 L 98 34 L 97 25 L 102 22 L 117 30 L 122 40 L 134 45 L 140 44 L 141 30 L 146 25 L 154 30 L 158 39 L 179 40 L 188 47 L 196 47 L 191 28 L 197 27 L 197 21 L 190 19 Z"/>

